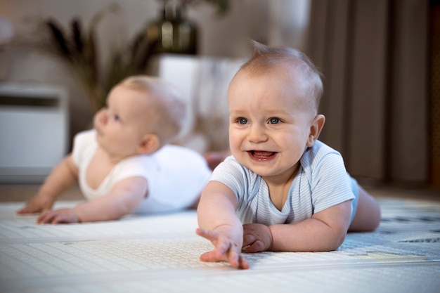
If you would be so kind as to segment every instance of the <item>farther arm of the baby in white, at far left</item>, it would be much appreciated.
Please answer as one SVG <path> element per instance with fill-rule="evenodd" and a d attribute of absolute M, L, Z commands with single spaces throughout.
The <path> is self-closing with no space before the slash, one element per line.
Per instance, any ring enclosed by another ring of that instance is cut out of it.
<path fill-rule="evenodd" d="M 72 155 L 67 155 L 48 175 L 37 195 L 18 210 L 18 214 L 32 214 L 51 209 L 56 197 L 77 182 L 78 169 Z"/>

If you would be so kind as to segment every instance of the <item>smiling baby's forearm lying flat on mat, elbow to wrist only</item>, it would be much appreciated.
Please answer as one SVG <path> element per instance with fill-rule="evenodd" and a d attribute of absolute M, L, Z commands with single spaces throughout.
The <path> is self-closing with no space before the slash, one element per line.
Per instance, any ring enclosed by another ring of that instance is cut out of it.
<path fill-rule="evenodd" d="M 272 233 L 271 250 L 277 252 L 332 251 L 342 245 L 347 235 L 344 228 L 332 228 L 317 219 L 269 228 Z"/>

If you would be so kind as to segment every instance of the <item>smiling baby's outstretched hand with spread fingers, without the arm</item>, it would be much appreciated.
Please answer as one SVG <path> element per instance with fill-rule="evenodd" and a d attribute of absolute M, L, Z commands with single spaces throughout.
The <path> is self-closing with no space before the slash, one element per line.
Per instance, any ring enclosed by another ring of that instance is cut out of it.
<path fill-rule="evenodd" d="M 228 261 L 235 268 L 249 268 L 249 263 L 241 255 L 241 245 L 218 231 L 198 228 L 196 233 L 212 242 L 214 249 L 200 256 L 201 261 Z"/>

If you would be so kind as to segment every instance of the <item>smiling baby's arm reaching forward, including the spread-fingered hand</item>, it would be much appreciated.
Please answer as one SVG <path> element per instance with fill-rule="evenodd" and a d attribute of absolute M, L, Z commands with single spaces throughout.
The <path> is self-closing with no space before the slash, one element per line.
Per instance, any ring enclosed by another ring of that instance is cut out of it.
<path fill-rule="evenodd" d="M 236 268 L 249 268 L 241 255 L 243 228 L 235 216 L 237 199 L 223 183 L 210 181 L 198 205 L 196 233 L 211 241 L 214 249 L 200 256 L 202 261 L 228 261 Z"/>

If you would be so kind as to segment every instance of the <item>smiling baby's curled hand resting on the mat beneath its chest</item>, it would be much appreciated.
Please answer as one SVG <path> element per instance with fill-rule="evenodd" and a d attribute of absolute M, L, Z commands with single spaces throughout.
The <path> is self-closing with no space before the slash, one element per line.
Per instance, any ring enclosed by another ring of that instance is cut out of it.
<path fill-rule="evenodd" d="M 245 252 L 266 252 L 272 247 L 271 229 L 262 224 L 243 225 L 243 247 Z"/>

